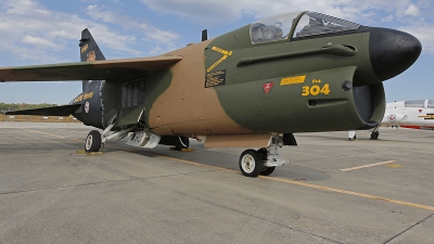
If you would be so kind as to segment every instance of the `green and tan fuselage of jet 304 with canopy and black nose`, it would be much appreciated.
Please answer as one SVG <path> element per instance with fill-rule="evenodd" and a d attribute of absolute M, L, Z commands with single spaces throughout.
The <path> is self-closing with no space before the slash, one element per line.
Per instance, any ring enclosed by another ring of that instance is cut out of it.
<path fill-rule="evenodd" d="M 283 14 L 165 53 L 182 60 L 141 79 L 100 81 L 75 116 L 98 128 L 143 118 L 155 134 L 190 138 L 367 129 L 384 115 L 382 81 L 420 51 L 398 30 Z"/>

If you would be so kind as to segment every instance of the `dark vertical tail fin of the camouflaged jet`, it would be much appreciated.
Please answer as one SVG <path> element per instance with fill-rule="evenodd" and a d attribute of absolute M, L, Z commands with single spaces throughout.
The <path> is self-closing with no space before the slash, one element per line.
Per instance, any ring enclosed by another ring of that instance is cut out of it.
<path fill-rule="evenodd" d="M 104 54 L 102 54 L 100 48 L 97 44 L 97 41 L 93 39 L 89 29 L 86 28 L 81 31 L 80 43 L 80 61 L 100 61 L 105 60 Z M 85 92 L 92 80 L 84 80 L 82 81 L 82 92 Z M 95 81 L 95 80 L 93 80 Z"/>

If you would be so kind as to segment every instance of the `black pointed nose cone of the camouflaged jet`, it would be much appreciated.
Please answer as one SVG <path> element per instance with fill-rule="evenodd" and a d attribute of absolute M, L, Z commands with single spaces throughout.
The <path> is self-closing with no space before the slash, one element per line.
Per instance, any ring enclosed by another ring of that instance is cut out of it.
<path fill-rule="evenodd" d="M 369 55 L 376 77 L 386 80 L 409 68 L 422 51 L 420 41 L 408 33 L 372 28 Z"/>

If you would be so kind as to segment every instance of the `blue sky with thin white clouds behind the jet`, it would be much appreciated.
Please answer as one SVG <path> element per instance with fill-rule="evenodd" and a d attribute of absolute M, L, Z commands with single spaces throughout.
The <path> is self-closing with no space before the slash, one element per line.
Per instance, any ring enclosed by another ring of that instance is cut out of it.
<path fill-rule="evenodd" d="M 384 82 L 386 101 L 434 99 L 432 0 L 0 0 L 0 67 L 79 61 L 89 28 L 107 60 L 155 56 L 275 14 L 316 11 L 407 31 L 422 54 Z M 67 104 L 79 81 L 0 84 L 0 102 Z"/>

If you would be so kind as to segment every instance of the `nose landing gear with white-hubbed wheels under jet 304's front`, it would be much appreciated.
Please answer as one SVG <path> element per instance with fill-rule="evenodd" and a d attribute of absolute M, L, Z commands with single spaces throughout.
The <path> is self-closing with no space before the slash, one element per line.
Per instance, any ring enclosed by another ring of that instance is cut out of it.
<path fill-rule="evenodd" d="M 282 159 L 278 153 L 278 147 L 282 147 L 281 138 L 273 137 L 272 143 L 267 146 L 255 150 L 244 151 L 239 160 L 240 170 L 246 177 L 269 176 L 275 171 L 276 166 L 290 163 Z"/>

